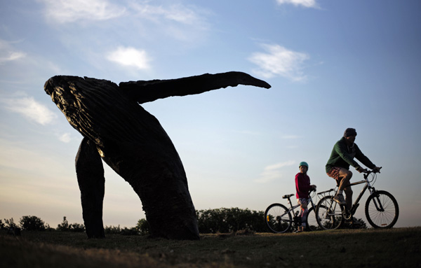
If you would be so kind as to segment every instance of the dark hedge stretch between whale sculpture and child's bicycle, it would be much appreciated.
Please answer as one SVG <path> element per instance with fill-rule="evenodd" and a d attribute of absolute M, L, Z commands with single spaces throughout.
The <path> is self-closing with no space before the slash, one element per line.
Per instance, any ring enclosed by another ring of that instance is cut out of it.
<path fill-rule="evenodd" d="M 250 230 L 253 232 L 266 232 L 265 213 L 263 211 L 250 211 L 249 209 L 208 209 L 196 211 L 199 232 L 227 233 L 239 230 Z"/>

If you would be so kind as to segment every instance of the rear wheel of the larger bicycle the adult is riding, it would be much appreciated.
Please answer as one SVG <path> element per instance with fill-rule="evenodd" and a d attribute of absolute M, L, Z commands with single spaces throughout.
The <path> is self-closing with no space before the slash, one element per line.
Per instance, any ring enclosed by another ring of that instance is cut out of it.
<path fill-rule="evenodd" d="M 338 229 L 344 221 L 340 204 L 332 196 L 323 197 L 316 207 L 316 220 L 324 230 Z"/>

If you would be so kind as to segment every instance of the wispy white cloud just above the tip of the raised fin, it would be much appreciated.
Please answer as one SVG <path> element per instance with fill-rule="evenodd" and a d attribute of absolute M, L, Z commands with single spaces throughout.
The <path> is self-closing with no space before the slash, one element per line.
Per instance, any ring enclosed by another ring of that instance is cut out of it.
<path fill-rule="evenodd" d="M 253 70 L 260 76 L 272 78 L 283 76 L 293 81 L 307 79 L 302 73 L 302 65 L 309 56 L 305 53 L 288 50 L 281 45 L 262 44 L 267 52 L 255 52 L 248 60 L 258 65 L 259 69 Z"/>

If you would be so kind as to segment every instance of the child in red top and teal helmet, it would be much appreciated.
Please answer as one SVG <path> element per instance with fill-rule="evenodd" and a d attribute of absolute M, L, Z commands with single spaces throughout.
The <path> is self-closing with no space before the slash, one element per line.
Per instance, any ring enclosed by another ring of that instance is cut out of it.
<path fill-rule="evenodd" d="M 310 185 L 310 177 L 307 175 L 309 170 L 309 164 L 307 162 L 300 162 L 298 166 L 300 172 L 295 175 L 295 190 L 297 190 L 297 202 L 300 204 L 300 216 L 301 216 L 301 226 L 298 227 L 298 232 L 304 232 L 306 228 L 307 215 L 309 210 L 307 206 L 309 204 L 309 192 L 312 189 L 316 189 L 316 185 Z"/>

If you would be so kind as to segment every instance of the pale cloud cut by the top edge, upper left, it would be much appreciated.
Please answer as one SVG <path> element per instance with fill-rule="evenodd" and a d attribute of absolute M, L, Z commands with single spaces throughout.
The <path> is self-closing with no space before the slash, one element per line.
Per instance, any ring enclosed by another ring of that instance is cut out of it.
<path fill-rule="evenodd" d="M 58 23 L 79 20 L 109 20 L 126 9 L 107 0 L 39 0 L 46 6 L 46 17 Z"/>

